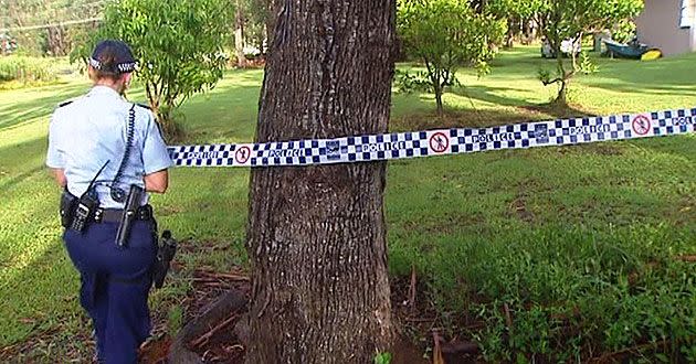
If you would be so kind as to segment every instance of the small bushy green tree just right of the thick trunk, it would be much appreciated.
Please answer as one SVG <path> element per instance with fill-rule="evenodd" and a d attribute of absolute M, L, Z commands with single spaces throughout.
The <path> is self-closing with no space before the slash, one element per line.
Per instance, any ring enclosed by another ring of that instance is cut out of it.
<path fill-rule="evenodd" d="M 407 54 L 421 60 L 426 73 L 405 83 L 422 85 L 435 94 L 437 115 L 443 115 L 442 94 L 456 83 L 456 69 L 473 65 L 488 72 L 505 22 L 477 14 L 467 0 L 404 0 L 399 2 L 399 35 Z M 404 83 L 404 79 L 401 81 Z"/>

